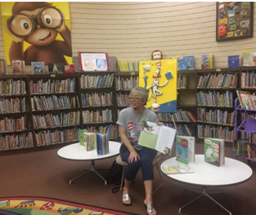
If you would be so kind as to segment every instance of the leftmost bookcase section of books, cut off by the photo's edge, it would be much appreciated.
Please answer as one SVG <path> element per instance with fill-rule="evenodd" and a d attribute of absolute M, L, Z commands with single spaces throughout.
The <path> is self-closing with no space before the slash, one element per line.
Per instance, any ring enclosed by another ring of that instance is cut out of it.
<path fill-rule="evenodd" d="M 0 77 L 0 151 L 34 147 L 28 83 L 27 75 Z"/>

